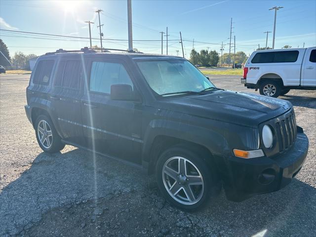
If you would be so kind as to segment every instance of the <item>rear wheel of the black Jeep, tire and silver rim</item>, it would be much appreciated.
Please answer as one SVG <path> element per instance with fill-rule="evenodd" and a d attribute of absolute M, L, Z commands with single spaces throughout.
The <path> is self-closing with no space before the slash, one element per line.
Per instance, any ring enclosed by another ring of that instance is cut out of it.
<path fill-rule="evenodd" d="M 65 147 L 61 142 L 53 122 L 46 115 L 40 115 L 35 122 L 36 138 L 41 150 L 47 153 L 56 153 Z"/>

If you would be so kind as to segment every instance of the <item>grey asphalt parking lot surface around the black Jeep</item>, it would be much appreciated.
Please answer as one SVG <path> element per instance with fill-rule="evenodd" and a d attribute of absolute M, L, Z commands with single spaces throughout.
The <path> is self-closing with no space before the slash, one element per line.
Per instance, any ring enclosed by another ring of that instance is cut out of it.
<path fill-rule="evenodd" d="M 153 177 L 66 146 L 44 154 L 26 118 L 30 75 L 0 76 L 0 236 L 316 236 L 316 91 L 291 90 L 308 157 L 284 189 L 231 202 L 224 191 L 185 213 L 160 196 Z M 210 75 L 217 87 L 246 89 L 239 76 Z"/>

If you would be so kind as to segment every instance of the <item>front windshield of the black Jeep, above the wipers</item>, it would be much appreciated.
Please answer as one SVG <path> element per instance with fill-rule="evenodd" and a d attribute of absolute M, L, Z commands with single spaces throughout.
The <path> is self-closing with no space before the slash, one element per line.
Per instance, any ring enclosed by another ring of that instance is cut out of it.
<path fill-rule="evenodd" d="M 158 95 L 199 92 L 215 88 L 196 67 L 184 59 L 137 60 L 137 65 Z"/>

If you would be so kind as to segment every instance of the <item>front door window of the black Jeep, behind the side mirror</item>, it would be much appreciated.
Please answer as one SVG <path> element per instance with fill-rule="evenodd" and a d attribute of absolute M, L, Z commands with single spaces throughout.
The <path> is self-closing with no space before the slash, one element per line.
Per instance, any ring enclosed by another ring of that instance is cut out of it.
<path fill-rule="evenodd" d="M 93 62 L 89 90 L 110 94 L 113 84 L 128 84 L 133 87 L 124 66 L 120 63 Z"/>

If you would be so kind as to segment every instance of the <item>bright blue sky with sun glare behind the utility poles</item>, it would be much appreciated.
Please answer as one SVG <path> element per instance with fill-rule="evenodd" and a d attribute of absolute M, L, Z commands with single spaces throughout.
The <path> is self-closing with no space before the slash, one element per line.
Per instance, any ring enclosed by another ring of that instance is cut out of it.
<path fill-rule="evenodd" d="M 284 7 L 277 11 L 275 48 L 285 44 L 303 47 L 304 42 L 305 47 L 316 46 L 315 0 L 132 0 L 133 39 L 160 40 L 159 32 L 165 32 L 168 27 L 168 54 L 176 55 L 176 50 L 181 52 L 180 31 L 187 57 L 193 39 L 197 51 L 209 47 L 220 52 L 223 41 L 226 44 L 224 52 L 228 52 L 232 17 L 236 51 L 248 54 L 258 44 L 265 46 L 266 34 L 263 32 L 273 32 L 274 11 L 269 11 L 273 6 Z M 92 37 L 98 38 L 96 9 L 104 10 L 100 15 L 104 38 L 127 40 L 126 0 L 1 0 L 0 29 L 88 37 L 84 21 L 91 20 L 96 23 L 92 24 Z M 57 48 L 78 49 L 89 45 L 89 41 L 84 39 L 65 40 L 4 31 L 0 31 L 0 38 L 11 55 L 15 51 L 40 55 Z M 93 44 L 100 45 L 98 40 L 93 41 Z M 163 44 L 165 53 L 165 42 Z M 126 41 L 104 40 L 103 43 L 107 48 L 127 49 L 127 45 Z M 133 46 L 143 52 L 161 52 L 160 41 L 137 41 Z M 269 34 L 268 46 L 272 46 L 272 33 Z"/>

